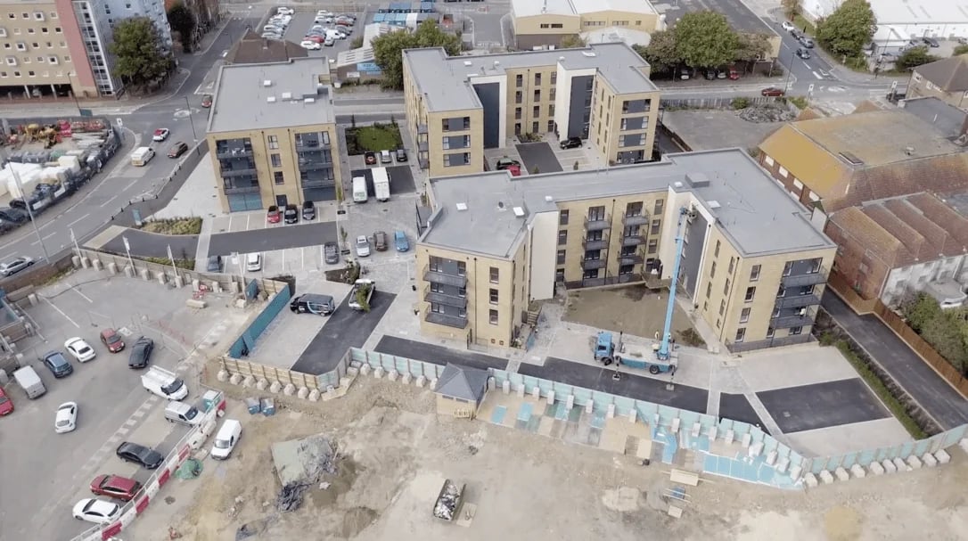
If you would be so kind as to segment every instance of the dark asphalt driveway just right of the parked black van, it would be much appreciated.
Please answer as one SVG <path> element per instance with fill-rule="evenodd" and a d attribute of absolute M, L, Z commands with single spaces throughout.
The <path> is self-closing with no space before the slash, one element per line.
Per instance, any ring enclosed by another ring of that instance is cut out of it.
<path fill-rule="evenodd" d="M 347 295 L 290 370 L 319 376 L 335 369 L 347 349 L 366 343 L 396 297 L 386 291 L 374 291 L 370 312 L 365 313 L 349 308 Z"/>

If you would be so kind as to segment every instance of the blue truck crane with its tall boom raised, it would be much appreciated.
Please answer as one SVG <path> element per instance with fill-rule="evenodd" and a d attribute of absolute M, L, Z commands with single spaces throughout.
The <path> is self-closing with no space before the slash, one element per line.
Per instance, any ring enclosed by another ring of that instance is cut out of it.
<path fill-rule="evenodd" d="M 595 360 L 608 366 L 613 362 L 630 368 L 648 370 L 651 374 L 671 372 L 676 374 L 679 355 L 672 347 L 672 316 L 676 310 L 676 289 L 679 287 L 679 271 L 682 263 L 682 244 L 684 233 L 682 225 L 689 216 L 685 207 L 679 209 L 679 224 L 676 226 L 676 258 L 672 267 L 672 284 L 669 285 L 669 301 L 666 303 L 665 325 L 662 327 L 662 340 L 652 346 L 651 351 L 631 344 L 616 344 L 612 333 L 601 331 L 595 343 Z M 621 336 L 621 335 L 620 335 Z"/>

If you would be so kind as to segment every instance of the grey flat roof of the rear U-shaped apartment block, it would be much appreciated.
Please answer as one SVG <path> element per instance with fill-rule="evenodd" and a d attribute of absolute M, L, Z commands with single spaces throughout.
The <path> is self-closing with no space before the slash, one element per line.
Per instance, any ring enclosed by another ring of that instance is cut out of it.
<path fill-rule="evenodd" d="M 404 51 L 404 62 L 430 111 L 480 107 L 469 83 L 473 76 L 503 75 L 508 68 L 555 66 L 559 62 L 568 70 L 597 69 L 620 94 L 657 90 L 649 77 L 639 71 L 649 63 L 632 47 L 621 43 L 452 57 L 441 47 L 417 48 Z"/>

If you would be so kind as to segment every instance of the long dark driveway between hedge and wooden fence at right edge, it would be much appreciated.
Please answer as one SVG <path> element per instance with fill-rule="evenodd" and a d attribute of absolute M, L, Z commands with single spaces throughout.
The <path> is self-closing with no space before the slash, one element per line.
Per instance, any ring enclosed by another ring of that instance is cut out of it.
<path fill-rule="evenodd" d="M 824 310 L 944 429 L 968 423 L 968 401 L 876 316 L 858 316 L 832 292 Z"/>

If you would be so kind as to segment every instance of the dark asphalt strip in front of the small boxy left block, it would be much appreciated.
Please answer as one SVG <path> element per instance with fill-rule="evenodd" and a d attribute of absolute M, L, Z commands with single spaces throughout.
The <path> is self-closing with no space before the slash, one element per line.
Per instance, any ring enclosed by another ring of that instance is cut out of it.
<path fill-rule="evenodd" d="M 249 254 L 303 246 L 319 246 L 337 240 L 336 223 L 287 225 L 212 235 L 208 255 Z M 194 254 L 194 252 L 192 252 Z"/>

